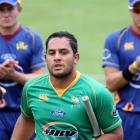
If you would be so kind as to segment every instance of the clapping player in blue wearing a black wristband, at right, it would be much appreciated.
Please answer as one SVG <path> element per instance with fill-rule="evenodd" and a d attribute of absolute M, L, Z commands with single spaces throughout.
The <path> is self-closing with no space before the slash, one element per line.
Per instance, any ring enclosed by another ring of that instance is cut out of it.
<path fill-rule="evenodd" d="M 116 93 L 124 140 L 140 139 L 140 0 L 129 0 L 132 24 L 105 41 L 103 68 L 106 85 Z"/>

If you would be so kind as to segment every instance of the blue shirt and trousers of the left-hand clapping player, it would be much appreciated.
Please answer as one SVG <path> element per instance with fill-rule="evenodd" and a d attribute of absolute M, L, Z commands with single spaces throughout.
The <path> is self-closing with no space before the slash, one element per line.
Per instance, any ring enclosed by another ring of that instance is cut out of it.
<path fill-rule="evenodd" d="M 23 26 L 20 26 L 10 38 L 0 34 L 0 63 L 6 59 L 18 61 L 21 68 L 17 70 L 22 73 L 31 73 L 38 68 L 45 67 L 44 49 L 40 35 Z M 0 85 L 7 91 L 0 104 L 0 140 L 9 140 L 20 114 L 23 86 L 15 81 L 3 79 L 0 79 Z"/>

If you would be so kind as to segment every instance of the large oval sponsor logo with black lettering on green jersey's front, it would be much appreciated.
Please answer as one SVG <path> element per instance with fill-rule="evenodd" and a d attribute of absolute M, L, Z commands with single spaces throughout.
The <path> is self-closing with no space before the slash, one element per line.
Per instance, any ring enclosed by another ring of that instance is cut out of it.
<path fill-rule="evenodd" d="M 68 138 L 70 140 L 78 139 L 77 128 L 66 122 L 50 122 L 42 127 L 45 139 L 49 138 Z"/>

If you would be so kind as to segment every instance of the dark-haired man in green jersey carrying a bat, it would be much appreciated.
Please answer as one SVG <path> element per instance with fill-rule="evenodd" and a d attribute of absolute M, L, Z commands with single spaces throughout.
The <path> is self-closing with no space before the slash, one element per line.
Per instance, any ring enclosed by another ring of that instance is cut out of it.
<path fill-rule="evenodd" d="M 76 70 L 76 38 L 55 32 L 46 41 L 49 74 L 29 80 L 12 140 L 28 140 L 35 124 L 36 140 L 91 140 L 91 124 L 82 97 L 87 95 L 104 135 L 96 140 L 122 140 L 123 133 L 111 93 L 99 82 Z M 26 132 L 26 133 L 25 133 Z"/>

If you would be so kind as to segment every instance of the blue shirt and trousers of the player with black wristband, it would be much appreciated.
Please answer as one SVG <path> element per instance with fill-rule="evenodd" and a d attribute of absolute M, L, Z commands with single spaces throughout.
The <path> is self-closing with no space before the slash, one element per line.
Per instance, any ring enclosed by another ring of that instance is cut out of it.
<path fill-rule="evenodd" d="M 106 38 L 103 67 L 114 67 L 122 71 L 136 59 L 140 59 L 140 36 L 131 27 L 113 32 Z M 124 140 L 139 140 L 140 70 L 117 92 L 117 109 L 123 120 Z"/>

